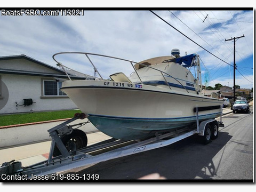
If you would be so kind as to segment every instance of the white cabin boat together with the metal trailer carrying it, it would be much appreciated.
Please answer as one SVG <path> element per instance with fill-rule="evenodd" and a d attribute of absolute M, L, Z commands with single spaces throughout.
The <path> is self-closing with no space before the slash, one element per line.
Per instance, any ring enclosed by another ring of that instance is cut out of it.
<path fill-rule="evenodd" d="M 89 55 L 113 58 L 92 53 L 65 53 L 85 54 L 98 74 Z M 55 173 L 61 171 L 164 147 L 194 134 L 201 136 L 205 144 L 216 139 L 219 126 L 224 126 L 221 121 L 223 101 L 201 94 L 198 55 L 179 57 L 172 53 L 174 57 L 139 63 L 113 58 L 130 62 L 135 71 L 129 78 L 123 73 L 110 75 L 111 81 L 100 74 L 100 78 L 86 75 L 83 81 L 71 81 L 70 71 L 67 73 L 65 66 L 58 62 L 69 78 L 61 89 L 83 113 L 47 130 L 52 138 L 47 160 L 25 167 L 14 160 L 5 162 L 0 167 L 1 177 L 25 175 L 33 179 L 35 175 L 46 175 L 45 178 L 54 180 Z M 55 55 L 58 54 L 64 53 Z M 191 67 L 196 68 L 195 77 L 189 70 Z M 218 116 L 220 122 L 214 119 Z M 70 125 L 86 117 L 113 138 L 87 146 L 86 134 L 78 128 L 89 122 Z M 77 174 L 71 175 L 78 179 Z M 83 177 L 79 179 L 84 181 Z"/>

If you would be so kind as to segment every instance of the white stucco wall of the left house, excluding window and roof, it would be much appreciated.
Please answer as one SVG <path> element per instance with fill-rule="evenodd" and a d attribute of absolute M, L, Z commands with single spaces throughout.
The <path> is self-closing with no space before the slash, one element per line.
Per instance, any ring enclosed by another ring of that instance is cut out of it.
<path fill-rule="evenodd" d="M 6 105 L 1 107 L 0 114 L 24 113 L 33 111 L 75 109 L 76 105 L 69 98 L 41 98 L 42 97 L 42 78 L 37 76 L 0 74 L 2 84 L 7 87 L 9 98 Z M 3 94 L 4 95 L 4 94 Z M 4 98 L 6 101 L 6 98 Z M 4 102 L 0 99 L 0 102 Z M 23 99 L 33 99 L 33 105 L 17 106 L 15 102 L 22 105 Z"/>

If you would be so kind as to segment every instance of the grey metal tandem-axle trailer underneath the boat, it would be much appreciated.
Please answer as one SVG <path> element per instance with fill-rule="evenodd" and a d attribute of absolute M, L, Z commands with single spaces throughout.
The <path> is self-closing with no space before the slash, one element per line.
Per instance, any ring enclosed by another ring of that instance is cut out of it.
<path fill-rule="evenodd" d="M 222 107 L 220 108 L 222 111 Z M 99 162 L 108 161 L 110 159 L 129 156 L 132 154 L 141 153 L 143 151 L 168 146 L 194 134 L 202 135 L 205 143 L 210 142 L 211 139 L 217 138 L 218 127 L 224 126 L 221 122 L 221 118 L 220 122 L 217 122 L 215 119 L 199 122 L 198 111 L 204 109 L 195 108 L 194 110 L 196 112 L 197 120 L 195 126 L 192 128 L 182 127 L 180 129 L 174 129 L 171 132 L 161 134 L 156 132 L 155 137 L 142 141 L 123 141 L 112 138 L 91 146 L 79 148 L 77 150 L 75 145 L 73 145 L 73 148 L 67 149 L 60 138 L 61 135 L 70 134 L 72 131 L 74 131 L 72 125 L 68 125 L 69 123 L 75 121 L 78 118 L 86 118 L 86 115 L 83 113 L 75 114 L 74 118 L 71 118 L 68 121 L 63 122 L 60 125 L 57 125 L 48 130 L 50 137 L 52 138 L 52 142 L 49 158 L 46 161 L 26 167 L 22 167 L 21 162 L 15 162 L 14 160 L 11 162 L 5 162 L 0 167 L 1 178 L 4 179 L 8 177 L 8 175 L 18 175 L 19 177 L 26 179 L 33 179 L 34 175 L 51 174 L 52 175 L 50 177 L 52 177 L 55 173 L 62 171 L 67 171 L 77 167 L 83 167 L 85 165 L 96 164 Z M 209 127 L 210 133 L 209 130 L 207 130 Z M 60 151 L 60 155 L 53 157 L 56 146 Z"/>

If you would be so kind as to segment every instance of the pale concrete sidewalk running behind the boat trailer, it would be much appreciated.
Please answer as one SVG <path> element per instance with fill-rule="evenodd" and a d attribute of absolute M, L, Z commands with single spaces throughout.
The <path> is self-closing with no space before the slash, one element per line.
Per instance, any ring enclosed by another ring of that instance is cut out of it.
<path fill-rule="evenodd" d="M 222 112 L 222 115 L 227 115 L 233 113 L 233 110 L 230 108 L 223 108 Z M 100 131 L 88 133 L 86 135 L 88 138 L 88 146 L 111 138 Z M 51 141 L 44 141 L 13 148 L 0 149 L 0 165 L 4 162 L 10 162 L 13 159 L 15 159 L 15 161 L 20 161 L 22 166 L 29 166 L 45 161 L 48 159 L 50 147 Z"/>

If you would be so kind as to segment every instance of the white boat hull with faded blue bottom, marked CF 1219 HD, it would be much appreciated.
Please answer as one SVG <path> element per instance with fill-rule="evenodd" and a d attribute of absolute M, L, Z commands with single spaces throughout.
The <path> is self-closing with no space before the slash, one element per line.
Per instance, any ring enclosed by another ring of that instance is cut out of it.
<path fill-rule="evenodd" d="M 116 139 L 144 139 L 155 132 L 195 124 L 195 107 L 221 106 L 222 100 L 150 85 L 111 81 L 66 81 L 61 91 L 101 132 Z M 199 121 L 221 109 L 199 111 Z"/>

